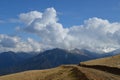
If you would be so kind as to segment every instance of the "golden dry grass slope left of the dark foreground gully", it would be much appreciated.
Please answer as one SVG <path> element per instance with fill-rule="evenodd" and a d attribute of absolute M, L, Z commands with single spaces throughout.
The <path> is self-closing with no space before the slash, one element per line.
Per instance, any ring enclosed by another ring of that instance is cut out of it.
<path fill-rule="evenodd" d="M 33 70 L 0 77 L 0 80 L 77 80 L 73 67 Z M 73 74 L 71 74 L 73 73 Z M 81 73 L 80 73 L 81 74 Z"/>

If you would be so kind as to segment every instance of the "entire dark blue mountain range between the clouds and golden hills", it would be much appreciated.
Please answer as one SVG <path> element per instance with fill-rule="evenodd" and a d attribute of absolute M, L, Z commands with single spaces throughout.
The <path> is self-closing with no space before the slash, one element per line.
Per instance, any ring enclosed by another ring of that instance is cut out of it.
<path fill-rule="evenodd" d="M 78 64 L 82 61 L 113 56 L 111 52 L 98 54 L 85 49 L 64 50 L 55 48 L 38 54 L 24 52 L 4 52 L 0 54 L 0 75 L 26 70 L 48 69 L 65 64 Z"/>

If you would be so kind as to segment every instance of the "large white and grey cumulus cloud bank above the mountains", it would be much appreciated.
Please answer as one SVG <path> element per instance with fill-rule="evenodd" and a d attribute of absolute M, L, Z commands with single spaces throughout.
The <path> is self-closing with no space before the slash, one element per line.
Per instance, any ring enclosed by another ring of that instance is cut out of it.
<path fill-rule="evenodd" d="M 19 19 L 25 26 L 20 28 L 21 31 L 37 35 L 40 41 L 30 38 L 22 41 L 16 37 L 0 36 L 0 44 L 2 44 L 0 47 L 17 51 L 79 48 L 97 52 L 108 52 L 120 48 L 119 22 L 110 23 L 108 20 L 93 17 L 85 20 L 83 25 L 65 28 L 58 22 L 54 8 L 47 8 L 44 12 L 21 13 Z M 7 40 L 10 42 L 6 43 Z"/>

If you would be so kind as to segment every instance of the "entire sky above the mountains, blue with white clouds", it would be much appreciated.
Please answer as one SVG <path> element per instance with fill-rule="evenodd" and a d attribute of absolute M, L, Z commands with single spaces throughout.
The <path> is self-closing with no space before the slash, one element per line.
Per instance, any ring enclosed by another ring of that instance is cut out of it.
<path fill-rule="evenodd" d="M 120 48 L 120 0 L 0 0 L 0 51 Z"/>

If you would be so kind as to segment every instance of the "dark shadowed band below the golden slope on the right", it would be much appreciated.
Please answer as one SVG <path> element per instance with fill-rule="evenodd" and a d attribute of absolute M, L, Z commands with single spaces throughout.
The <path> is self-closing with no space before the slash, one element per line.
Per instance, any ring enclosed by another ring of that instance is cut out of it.
<path fill-rule="evenodd" d="M 79 64 L 79 66 L 98 69 L 98 70 L 112 73 L 115 75 L 120 75 L 120 68 L 117 68 L 117 67 L 109 67 L 109 66 L 104 66 L 104 65 L 86 65 L 86 64 L 81 64 L 81 63 Z"/>

